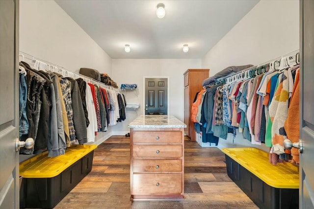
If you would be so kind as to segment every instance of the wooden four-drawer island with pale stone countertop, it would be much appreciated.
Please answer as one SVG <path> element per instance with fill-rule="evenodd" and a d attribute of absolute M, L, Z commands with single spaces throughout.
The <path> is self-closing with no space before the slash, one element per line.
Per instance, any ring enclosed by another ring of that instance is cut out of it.
<path fill-rule="evenodd" d="M 139 116 L 130 128 L 132 200 L 183 199 L 184 128 L 174 116 Z"/>

